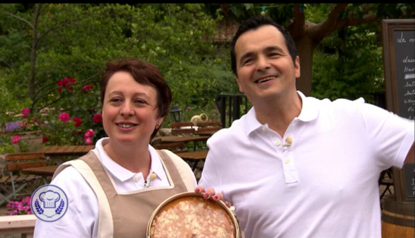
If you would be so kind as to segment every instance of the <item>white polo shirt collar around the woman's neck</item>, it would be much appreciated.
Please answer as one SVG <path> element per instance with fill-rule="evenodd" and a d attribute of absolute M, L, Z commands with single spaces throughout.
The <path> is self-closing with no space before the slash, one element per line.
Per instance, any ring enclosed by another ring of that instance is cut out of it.
<path fill-rule="evenodd" d="M 95 149 L 98 150 L 98 154 L 100 155 L 100 161 L 102 165 L 111 173 L 111 175 L 114 178 L 117 178 L 119 181 L 127 181 L 130 178 L 133 178 L 137 173 L 133 173 L 126 168 L 122 167 L 121 165 L 118 165 L 115 161 L 113 161 L 111 158 L 109 158 L 107 152 L 105 152 L 104 147 L 102 146 L 102 143 L 104 140 L 108 140 L 109 138 L 101 138 L 97 141 L 95 145 Z M 162 174 L 164 172 L 163 165 L 161 164 L 161 161 L 158 157 L 158 153 L 156 150 L 149 145 L 149 152 L 151 157 L 151 165 L 150 165 L 150 172 L 154 172 L 157 177 L 158 174 Z"/>

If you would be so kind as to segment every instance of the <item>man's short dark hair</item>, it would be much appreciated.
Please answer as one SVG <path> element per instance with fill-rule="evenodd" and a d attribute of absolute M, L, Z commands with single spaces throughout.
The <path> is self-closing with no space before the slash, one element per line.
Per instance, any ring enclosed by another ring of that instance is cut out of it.
<path fill-rule="evenodd" d="M 284 28 L 284 26 L 281 26 L 279 24 L 276 24 L 273 19 L 270 17 L 265 17 L 261 15 L 250 17 L 250 19 L 246 20 L 239 26 L 237 33 L 232 39 L 232 46 L 230 48 L 230 62 L 232 65 L 232 71 L 235 75 L 238 75 L 237 73 L 237 59 L 235 55 L 235 44 L 237 43 L 237 40 L 239 37 L 246 33 L 248 30 L 256 30 L 257 28 L 261 26 L 271 25 L 275 26 L 279 30 L 279 32 L 282 33 L 284 36 L 286 46 L 288 48 L 288 52 L 291 55 L 291 58 L 293 59 L 293 62 L 295 63 L 295 57 L 297 57 L 297 49 L 295 48 L 295 44 L 293 41 L 293 37 L 291 37 L 290 33 L 288 33 L 288 30 Z"/>

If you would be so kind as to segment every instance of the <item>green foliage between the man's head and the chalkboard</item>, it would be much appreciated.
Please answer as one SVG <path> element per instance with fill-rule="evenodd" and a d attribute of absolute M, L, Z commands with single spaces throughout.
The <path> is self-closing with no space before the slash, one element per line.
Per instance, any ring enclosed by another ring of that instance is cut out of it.
<path fill-rule="evenodd" d="M 313 96 L 365 98 L 384 91 L 382 47 L 370 28 L 351 27 L 326 37 L 313 57 Z"/>

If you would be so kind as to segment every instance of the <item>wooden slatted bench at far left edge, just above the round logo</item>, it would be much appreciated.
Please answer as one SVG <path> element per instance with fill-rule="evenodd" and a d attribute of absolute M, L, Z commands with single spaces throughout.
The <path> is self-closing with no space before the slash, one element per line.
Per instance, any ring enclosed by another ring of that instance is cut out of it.
<path fill-rule="evenodd" d="M 6 201 L 10 201 L 10 198 L 16 199 L 17 196 L 23 190 L 28 182 L 34 181 L 41 176 L 34 174 L 26 174 L 21 170 L 30 167 L 45 167 L 46 157 L 44 153 L 28 152 L 28 153 L 15 153 L 6 155 L 6 169 L 9 175 L 5 175 L 0 178 L 0 205 Z"/>

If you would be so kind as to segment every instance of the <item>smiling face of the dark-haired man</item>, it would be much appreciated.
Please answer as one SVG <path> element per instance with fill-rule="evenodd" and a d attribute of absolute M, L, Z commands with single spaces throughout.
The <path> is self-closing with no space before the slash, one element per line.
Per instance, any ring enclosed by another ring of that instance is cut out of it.
<path fill-rule="evenodd" d="M 252 104 L 295 93 L 299 57 L 295 64 L 282 33 L 275 26 L 261 26 L 243 33 L 235 44 L 239 91 Z"/>

